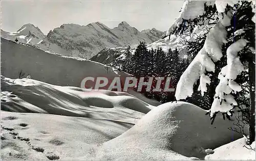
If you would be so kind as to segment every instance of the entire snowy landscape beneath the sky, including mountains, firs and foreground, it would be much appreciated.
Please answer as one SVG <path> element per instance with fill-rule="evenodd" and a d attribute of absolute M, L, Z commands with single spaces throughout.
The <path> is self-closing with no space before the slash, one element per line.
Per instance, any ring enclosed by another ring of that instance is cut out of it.
<path fill-rule="evenodd" d="M 185 1 L 166 32 L 1 30 L 1 159 L 255 160 L 254 14 L 254 2 Z M 131 77 L 149 84 L 108 90 Z"/>

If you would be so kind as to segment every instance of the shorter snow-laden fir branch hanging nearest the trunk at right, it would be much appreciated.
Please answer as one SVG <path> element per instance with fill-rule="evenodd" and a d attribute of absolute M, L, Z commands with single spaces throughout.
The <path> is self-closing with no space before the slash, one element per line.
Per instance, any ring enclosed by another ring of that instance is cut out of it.
<path fill-rule="evenodd" d="M 237 84 L 234 79 L 236 79 L 242 71 L 245 71 L 238 57 L 238 52 L 246 46 L 247 42 L 248 41 L 245 39 L 240 39 L 227 48 L 227 65 L 221 69 L 218 76 L 220 83 L 216 87 L 215 99 L 211 105 L 211 117 L 214 113 L 219 111 L 227 112 L 228 115 L 231 115 L 229 111 L 233 109 L 233 105 L 238 105 L 237 101 L 234 100 L 234 97 L 231 95 L 231 92 L 236 93 L 242 91 L 242 87 Z"/>

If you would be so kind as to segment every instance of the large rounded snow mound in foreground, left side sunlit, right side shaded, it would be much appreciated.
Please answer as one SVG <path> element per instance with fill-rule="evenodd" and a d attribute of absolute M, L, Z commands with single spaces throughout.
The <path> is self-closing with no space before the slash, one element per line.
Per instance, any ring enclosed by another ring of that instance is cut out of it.
<path fill-rule="evenodd" d="M 127 151 L 127 156 L 129 153 L 132 155 L 135 149 L 144 154 L 162 151 L 166 153 L 167 160 L 176 159 L 173 156 L 175 152 L 187 157 L 204 158 L 205 149 L 214 149 L 242 137 L 228 130 L 233 126 L 232 121 L 217 117 L 211 125 L 205 113 L 205 110 L 186 102 L 159 105 L 131 129 L 104 143 L 102 148 L 109 153 L 116 153 L 117 149 Z"/>

